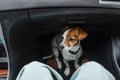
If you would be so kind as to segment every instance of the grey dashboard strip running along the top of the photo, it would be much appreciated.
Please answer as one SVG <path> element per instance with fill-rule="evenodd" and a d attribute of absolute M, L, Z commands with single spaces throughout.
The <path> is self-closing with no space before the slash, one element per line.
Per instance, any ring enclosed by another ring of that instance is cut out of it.
<path fill-rule="evenodd" d="M 116 1 L 118 0 L 112 0 L 112 2 L 111 0 L 2 0 L 0 11 L 50 7 L 120 8 L 119 2 Z"/>

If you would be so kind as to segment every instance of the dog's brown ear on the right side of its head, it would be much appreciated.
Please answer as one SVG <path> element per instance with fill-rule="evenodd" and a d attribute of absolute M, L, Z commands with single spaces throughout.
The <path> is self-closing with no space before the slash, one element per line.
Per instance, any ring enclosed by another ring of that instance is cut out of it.
<path fill-rule="evenodd" d="M 76 29 L 76 33 L 78 34 L 79 40 L 83 40 L 88 36 L 87 32 L 85 32 L 83 29 L 79 27 L 76 27 L 75 29 Z"/>

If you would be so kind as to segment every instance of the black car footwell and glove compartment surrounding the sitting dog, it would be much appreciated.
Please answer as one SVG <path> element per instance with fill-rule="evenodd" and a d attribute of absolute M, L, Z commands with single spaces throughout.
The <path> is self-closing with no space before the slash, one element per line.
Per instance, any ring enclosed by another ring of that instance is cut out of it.
<path fill-rule="evenodd" d="M 88 33 L 88 37 L 81 41 L 84 53 L 79 63 L 83 58 L 97 61 L 116 80 L 120 80 L 118 8 L 46 7 L 6 10 L 0 12 L 0 21 L 9 58 L 8 80 L 15 80 L 21 68 L 31 61 L 47 64 L 47 60 L 42 58 L 52 54 L 51 41 L 66 25 L 80 27 Z M 65 76 L 64 68 L 56 69 L 64 80 L 69 80 L 74 73 L 72 65 L 71 70 L 71 74 Z"/>

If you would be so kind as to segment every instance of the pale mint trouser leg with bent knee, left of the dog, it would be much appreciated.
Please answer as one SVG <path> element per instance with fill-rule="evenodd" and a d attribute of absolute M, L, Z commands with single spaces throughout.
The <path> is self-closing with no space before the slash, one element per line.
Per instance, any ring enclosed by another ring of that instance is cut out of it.
<path fill-rule="evenodd" d="M 20 70 L 16 80 L 54 80 L 51 73 L 57 80 L 63 80 L 62 77 L 51 67 L 33 61 Z"/>

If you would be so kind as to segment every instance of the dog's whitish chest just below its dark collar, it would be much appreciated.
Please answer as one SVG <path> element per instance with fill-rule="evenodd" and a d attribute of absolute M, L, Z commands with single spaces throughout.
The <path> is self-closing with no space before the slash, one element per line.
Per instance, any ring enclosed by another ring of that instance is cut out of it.
<path fill-rule="evenodd" d="M 80 49 L 76 54 L 71 54 L 68 50 L 62 50 L 62 56 L 66 60 L 76 60 L 82 55 L 82 49 Z"/>

